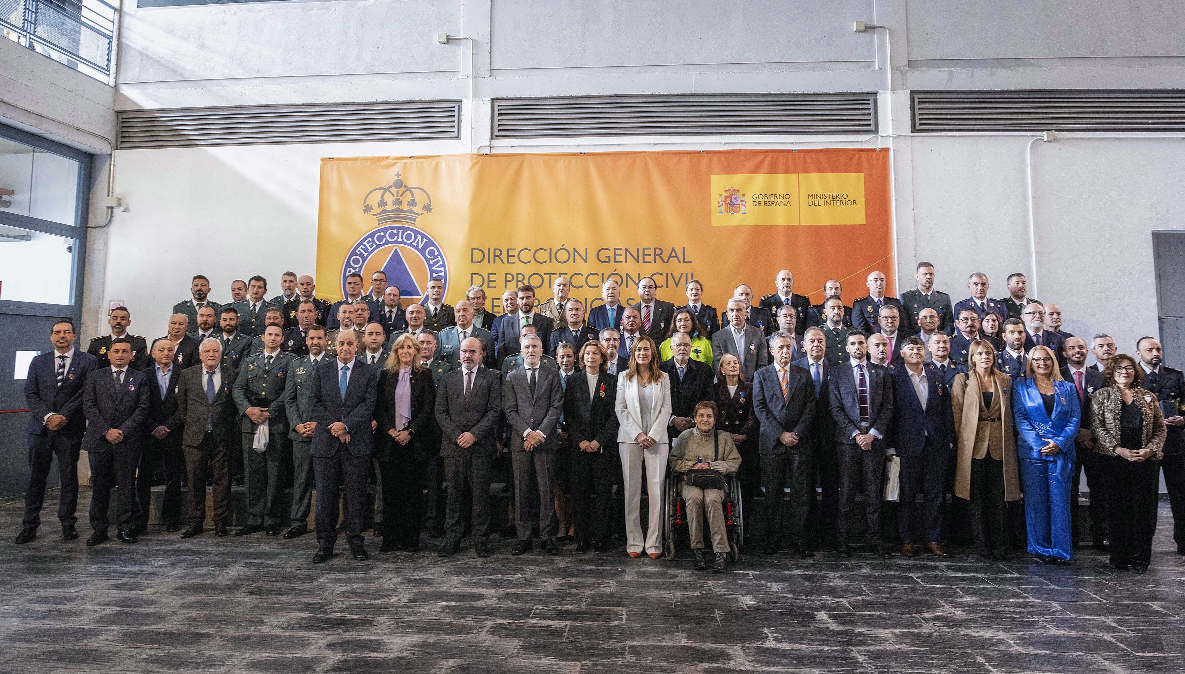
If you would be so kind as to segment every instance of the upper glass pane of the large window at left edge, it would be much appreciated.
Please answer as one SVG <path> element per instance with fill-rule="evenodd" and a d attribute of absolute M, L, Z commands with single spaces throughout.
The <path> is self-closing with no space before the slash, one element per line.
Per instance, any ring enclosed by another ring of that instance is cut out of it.
<path fill-rule="evenodd" d="M 0 139 L 0 188 L 12 195 L 0 213 L 17 213 L 63 225 L 75 225 L 81 165 L 65 156 Z"/>

